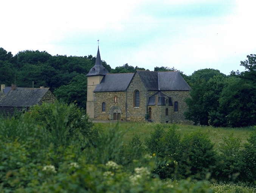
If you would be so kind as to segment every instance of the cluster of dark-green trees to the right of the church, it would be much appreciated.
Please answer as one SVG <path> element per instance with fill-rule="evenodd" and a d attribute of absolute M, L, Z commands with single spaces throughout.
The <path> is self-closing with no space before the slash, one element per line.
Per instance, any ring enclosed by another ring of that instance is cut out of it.
<path fill-rule="evenodd" d="M 189 81 L 186 118 L 195 124 L 245 127 L 256 124 L 256 55 L 241 61 L 246 71 L 226 76 L 214 69 L 195 71 Z"/>

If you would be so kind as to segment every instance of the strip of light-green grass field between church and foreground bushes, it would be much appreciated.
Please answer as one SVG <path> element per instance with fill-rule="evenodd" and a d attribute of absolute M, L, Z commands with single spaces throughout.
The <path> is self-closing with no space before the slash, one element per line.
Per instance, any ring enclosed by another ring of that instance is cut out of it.
<path fill-rule="evenodd" d="M 121 131 L 124 132 L 124 142 L 130 141 L 133 136 L 138 135 L 141 141 L 144 141 L 146 137 L 150 136 L 150 133 L 154 130 L 157 123 L 138 123 L 138 122 L 119 122 L 119 123 L 95 123 L 96 127 L 101 129 L 107 129 L 109 127 L 118 127 Z M 167 130 L 171 124 L 162 124 L 163 127 Z M 194 132 L 200 130 L 203 133 L 209 135 L 211 141 L 218 145 L 223 141 L 223 137 L 228 137 L 232 132 L 234 137 L 240 138 L 242 144 L 247 142 L 251 131 L 254 130 L 254 127 L 245 127 L 245 128 L 229 128 L 229 127 L 209 127 L 209 126 L 192 126 L 192 125 L 182 125 L 176 124 L 178 127 L 178 132 L 181 137 L 186 133 Z"/>

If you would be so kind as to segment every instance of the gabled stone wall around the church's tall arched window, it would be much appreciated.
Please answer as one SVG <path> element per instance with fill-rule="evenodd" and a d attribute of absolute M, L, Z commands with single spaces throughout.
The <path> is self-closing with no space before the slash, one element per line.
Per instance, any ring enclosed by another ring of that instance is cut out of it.
<path fill-rule="evenodd" d="M 133 105 L 135 90 L 140 91 L 139 107 L 134 107 Z M 145 114 L 147 113 L 147 98 L 147 89 L 136 72 L 127 89 L 127 121 L 145 121 Z"/>

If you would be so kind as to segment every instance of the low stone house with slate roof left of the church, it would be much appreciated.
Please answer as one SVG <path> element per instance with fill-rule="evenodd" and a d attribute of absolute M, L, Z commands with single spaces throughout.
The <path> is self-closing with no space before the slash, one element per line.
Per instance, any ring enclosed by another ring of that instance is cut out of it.
<path fill-rule="evenodd" d="M 12 84 L 6 87 L 1 84 L 0 90 L 0 113 L 13 115 L 19 112 L 28 111 L 29 107 L 43 102 L 54 103 L 56 100 L 49 88 L 23 88 Z"/>

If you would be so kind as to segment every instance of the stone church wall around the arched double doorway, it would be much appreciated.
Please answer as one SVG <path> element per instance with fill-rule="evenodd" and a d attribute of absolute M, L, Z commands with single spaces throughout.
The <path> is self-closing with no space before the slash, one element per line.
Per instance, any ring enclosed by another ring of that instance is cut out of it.
<path fill-rule="evenodd" d="M 96 120 L 110 120 L 110 109 L 118 106 L 122 113 L 121 119 L 126 120 L 126 92 L 95 92 L 95 115 Z M 114 101 L 117 96 L 117 103 Z M 106 112 L 102 112 L 102 103 L 106 103 Z"/>

